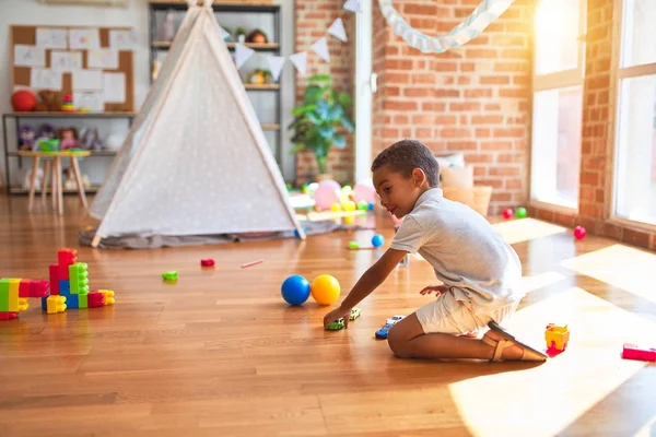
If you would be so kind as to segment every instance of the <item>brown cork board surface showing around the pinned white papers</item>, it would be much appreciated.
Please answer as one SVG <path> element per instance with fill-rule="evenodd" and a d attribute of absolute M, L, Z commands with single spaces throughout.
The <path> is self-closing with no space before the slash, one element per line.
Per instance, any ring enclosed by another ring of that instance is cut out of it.
<path fill-rule="evenodd" d="M 12 90 L 16 87 L 31 87 L 31 70 L 32 67 L 20 67 L 14 64 L 14 47 L 19 44 L 35 46 L 36 45 L 36 29 L 37 28 L 97 28 L 99 33 L 99 48 L 109 47 L 109 31 L 132 31 L 130 27 L 89 27 L 89 26 L 11 26 L 11 57 L 12 57 L 12 74 L 11 85 Z M 52 51 L 79 51 L 82 54 L 82 69 L 86 70 L 89 66 L 87 50 L 85 49 L 45 49 L 46 64 L 44 68 L 48 69 L 51 66 L 51 52 Z M 132 113 L 134 111 L 134 63 L 132 50 L 119 50 L 118 51 L 118 68 L 117 69 L 93 69 L 96 71 L 103 71 L 107 73 L 124 73 L 125 74 L 125 102 L 124 103 L 105 103 L 104 109 L 106 113 Z M 62 88 L 59 93 L 63 96 L 65 94 L 73 94 L 73 79 L 69 72 L 63 72 L 61 76 Z M 34 92 L 38 92 L 38 88 L 32 88 Z M 73 102 L 74 104 L 74 102 Z"/>

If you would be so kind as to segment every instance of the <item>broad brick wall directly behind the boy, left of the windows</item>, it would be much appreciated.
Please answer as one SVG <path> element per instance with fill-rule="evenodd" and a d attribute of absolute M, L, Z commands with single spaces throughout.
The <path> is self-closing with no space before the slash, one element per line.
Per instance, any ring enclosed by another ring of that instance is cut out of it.
<path fill-rule="evenodd" d="M 397 0 L 431 35 L 450 31 L 480 0 Z M 436 154 L 464 152 L 475 181 L 494 187 L 490 213 L 528 196 L 532 2 L 516 1 L 460 49 L 423 55 L 394 35 L 374 8 L 373 152 L 417 138 Z"/>

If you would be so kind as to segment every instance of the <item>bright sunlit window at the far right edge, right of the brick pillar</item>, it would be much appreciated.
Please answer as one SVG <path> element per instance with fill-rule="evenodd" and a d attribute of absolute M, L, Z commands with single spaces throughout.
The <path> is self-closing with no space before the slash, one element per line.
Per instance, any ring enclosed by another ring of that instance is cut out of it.
<path fill-rule="evenodd" d="M 656 224 L 656 1 L 620 9 L 614 215 Z"/>

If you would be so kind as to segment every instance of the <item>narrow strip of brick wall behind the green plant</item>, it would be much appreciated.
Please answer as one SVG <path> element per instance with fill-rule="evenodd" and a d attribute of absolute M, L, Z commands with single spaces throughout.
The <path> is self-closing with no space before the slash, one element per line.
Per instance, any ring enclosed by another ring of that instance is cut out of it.
<path fill-rule="evenodd" d="M 307 75 L 296 75 L 296 103 L 303 101 L 307 79 L 313 74 L 330 74 L 332 84 L 351 95 L 354 92 L 355 74 L 355 17 L 342 9 L 343 2 L 337 0 L 295 0 L 295 51 L 307 51 Z M 328 35 L 330 62 L 324 61 L 311 48 L 332 22 L 341 17 L 347 29 L 348 43 Z M 351 182 L 354 173 L 353 135 L 347 135 L 347 147 L 332 149 L 328 156 L 328 172 L 340 182 Z M 313 153 L 302 152 L 296 160 L 296 182 L 313 180 L 318 174 Z"/>

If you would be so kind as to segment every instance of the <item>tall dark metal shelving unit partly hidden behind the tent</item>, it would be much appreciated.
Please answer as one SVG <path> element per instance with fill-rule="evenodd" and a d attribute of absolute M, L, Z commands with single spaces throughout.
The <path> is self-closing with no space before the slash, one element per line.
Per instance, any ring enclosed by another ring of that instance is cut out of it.
<path fill-rule="evenodd" d="M 149 0 L 150 68 L 152 68 L 153 62 L 159 58 L 160 54 L 166 52 L 172 45 L 172 42 L 161 40 L 161 38 L 159 38 L 159 36 L 160 36 L 159 26 L 161 23 L 163 23 L 163 17 L 165 16 L 165 14 L 171 10 L 184 13 L 187 10 L 187 3 L 184 0 Z M 229 20 L 227 14 L 232 14 L 233 21 L 235 17 L 237 17 L 238 21 L 241 21 L 241 22 L 243 22 L 243 20 L 245 20 L 244 17 L 247 16 L 247 14 L 258 14 L 258 15 L 261 14 L 262 16 L 270 17 L 272 20 L 272 28 L 271 28 L 271 32 L 268 33 L 270 42 L 266 43 L 266 44 L 244 43 L 244 46 L 249 47 L 260 54 L 270 54 L 271 56 L 280 56 L 280 52 L 281 52 L 281 47 L 280 47 L 281 13 L 280 13 L 279 4 L 273 4 L 271 1 L 266 1 L 266 0 L 263 0 L 263 1 L 262 0 L 243 1 L 239 3 L 231 3 L 227 1 L 223 1 L 223 0 L 220 0 L 220 1 L 214 0 L 214 2 L 212 3 L 212 10 L 213 10 L 214 16 L 216 16 L 216 20 L 220 25 L 225 24 L 225 23 L 222 23 L 222 21 Z M 222 20 L 221 14 L 226 14 L 223 17 L 224 20 Z M 248 26 L 248 25 L 245 24 L 245 26 Z M 259 27 L 259 26 L 254 25 L 253 28 L 255 28 L 255 27 Z M 253 28 L 249 28 L 248 32 L 250 32 Z M 231 51 L 235 49 L 235 46 L 236 46 L 236 43 L 234 43 L 234 42 L 227 43 L 227 48 Z M 241 75 L 243 75 L 242 71 L 239 73 L 241 73 Z M 257 94 L 253 94 L 253 95 L 257 96 L 255 98 L 260 98 L 260 99 L 263 97 L 261 97 L 259 93 L 266 93 L 266 92 L 274 93 L 274 96 L 276 96 L 274 97 L 276 98 L 274 111 L 276 111 L 276 114 L 274 114 L 273 120 L 267 120 L 267 121 L 273 121 L 273 122 L 262 122 L 261 127 L 262 127 L 262 130 L 265 130 L 265 131 L 274 131 L 276 143 L 270 144 L 270 146 L 271 146 L 271 150 L 273 151 L 273 154 L 276 156 L 276 161 L 278 162 L 278 165 L 281 166 L 281 163 L 282 163 L 281 86 L 278 83 L 268 83 L 268 84 L 261 84 L 261 85 L 245 83 L 244 87 L 246 88 L 247 92 L 249 92 L 249 96 L 251 95 L 250 92 L 256 92 Z M 265 96 L 266 96 L 266 94 L 265 94 Z M 251 99 L 253 98 L 254 97 L 251 97 Z M 282 168 L 281 168 L 281 170 L 282 170 Z"/>

